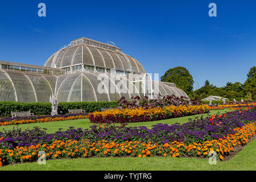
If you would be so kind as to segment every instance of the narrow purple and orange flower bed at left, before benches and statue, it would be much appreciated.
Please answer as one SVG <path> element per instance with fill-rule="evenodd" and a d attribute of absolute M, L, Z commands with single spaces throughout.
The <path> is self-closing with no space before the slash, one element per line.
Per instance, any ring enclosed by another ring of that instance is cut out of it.
<path fill-rule="evenodd" d="M 7 125 L 21 125 L 27 123 L 41 123 L 41 122 L 53 122 L 53 121 L 65 121 L 72 119 L 85 119 L 88 115 L 85 114 L 64 114 L 64 115 L 42 115 L 31 117 L 16 117 L 16 118 L 0 118 L 0 126 Z"/>

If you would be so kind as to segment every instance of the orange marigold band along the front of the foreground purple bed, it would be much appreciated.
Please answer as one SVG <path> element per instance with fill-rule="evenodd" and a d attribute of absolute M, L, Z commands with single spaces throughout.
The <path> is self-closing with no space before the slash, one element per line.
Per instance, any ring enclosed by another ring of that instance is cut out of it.
<path fill-rule="evenodd" d="M 52 144 L 39 143 L 30 147 L 16 147 L 14 150 L 0 150 L 0 166 L 10 163 L 35 162 L 40 156 L 39 151 L 46 152 L 46 159 L 62 158 L 89 158 L 92 156 L 205 156 L 216 152 L 218 159 L 224 159 L 225 155 L 237 145 L 244 146 L 249 138 L 255 135 L 256 122 L 247 123 L 241 128 L 234 129 L 236 134 L 230 134 L 224 139 L 210 140 L 204 143 L 191 143 L 185 145 L 183 142 L 172 142 L 165 144 L 144 143 L 144 142 L 123 142 L 115 143 L 101 140 L 90 142 L 89 140 L 68 140 L 67 142 L 56 140 Z"/>

